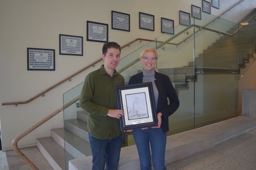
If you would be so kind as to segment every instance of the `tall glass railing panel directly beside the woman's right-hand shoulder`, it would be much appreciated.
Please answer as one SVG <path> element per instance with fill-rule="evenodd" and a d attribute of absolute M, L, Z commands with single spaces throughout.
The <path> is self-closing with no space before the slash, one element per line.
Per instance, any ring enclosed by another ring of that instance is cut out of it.
<path fill-rule="evenodd" d="M 187 29 L 186 32 L 184 29 Z M 193 63 L 190 64 L 193 62 L 194 43 L 189 38 L 191 36 L 193 27 L 182 26 L 180 36 L 157 49 L 157 70 L 169 76 L 180 100 L 180 107 L 169 117 L 170 131 L 167 135 L 194 128 L 194 70 Z M 184 39 L 187 40 L 183 41 Z"/>

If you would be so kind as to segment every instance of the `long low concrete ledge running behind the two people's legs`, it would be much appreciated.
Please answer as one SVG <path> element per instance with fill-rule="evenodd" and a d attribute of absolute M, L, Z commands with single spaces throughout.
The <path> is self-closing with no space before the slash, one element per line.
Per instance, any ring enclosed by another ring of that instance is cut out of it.
<path fill-rule="evenodd" d="M 165 163 L 170 164 L 175 160 L 180 160 L 203 150 L 210 149 L 254 128 L 256 128 L 256 118 L 238 116 L 201 128 L 170 135 L 167 137 Z M 91 156 L 69 161 L 69 170 L 91 168 Z M 121 149 L 118 168 L 122 170 L 140 169 L 138 152 L 135 145 Z"/>

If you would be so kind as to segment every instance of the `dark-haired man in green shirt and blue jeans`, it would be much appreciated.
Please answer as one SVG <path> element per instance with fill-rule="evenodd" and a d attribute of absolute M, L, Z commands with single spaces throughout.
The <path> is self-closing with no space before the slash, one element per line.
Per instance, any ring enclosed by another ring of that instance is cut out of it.
<path fill-rule="evenodd" d="M 124 85 L 124 78 L 116 72 L 121 47 L 115 42 L 102 47 L 104 64 L 89 73 L 84 81 L 80 106 L 89 112 L 88 129 L 92 150 L 92 169 L 114 170 L 118 167 L 122 144 L 119 118 L 124 115 L 117 109 L 116 86 Z"/>

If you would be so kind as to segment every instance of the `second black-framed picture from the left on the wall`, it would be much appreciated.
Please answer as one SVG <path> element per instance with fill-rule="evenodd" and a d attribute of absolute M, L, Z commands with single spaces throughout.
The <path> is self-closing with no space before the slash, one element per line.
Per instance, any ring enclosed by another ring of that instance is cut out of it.
<path fill-rule="evenodd" d="M 60 34 L 60 54 L 83 55 L 83 37 Z"/>

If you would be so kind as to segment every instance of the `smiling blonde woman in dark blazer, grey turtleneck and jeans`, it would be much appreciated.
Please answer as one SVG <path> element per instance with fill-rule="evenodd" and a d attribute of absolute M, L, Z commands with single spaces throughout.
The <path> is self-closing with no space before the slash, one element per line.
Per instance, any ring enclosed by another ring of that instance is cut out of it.
<path fill-rule="evenodd" d="M 155 170 L 166 169 L 164 159 L 166 132 L 169 131 L 168 117 L 179 107 L 177 92 L 173 88 L 170 78 L 155 71 L 157 60 L 158 54 L 154 48 L 144 49 L 140 54 L 143 70 L 129 80 L 129 84 L 152 82 L 156 104 L 158 125 L 132 131 L 138 149 L 141 170 L 151 170 L 150 155 L 152 155 Z"/>

